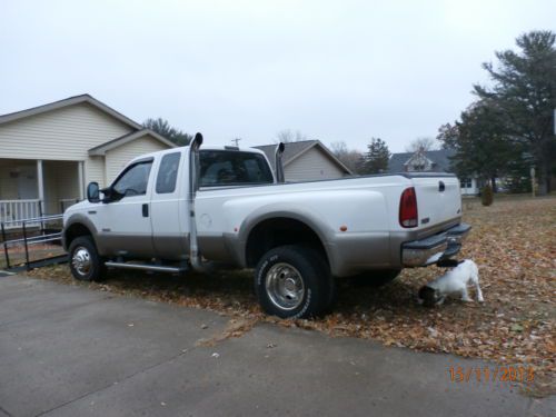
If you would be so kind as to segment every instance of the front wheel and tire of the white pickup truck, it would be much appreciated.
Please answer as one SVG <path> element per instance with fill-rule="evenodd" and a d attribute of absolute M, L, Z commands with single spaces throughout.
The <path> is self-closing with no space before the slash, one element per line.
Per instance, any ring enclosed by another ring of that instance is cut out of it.
<path fill-rule="evenodd" d="M 80 236 L 70 244 L 69 264 L 71 275 L 80 281 L 98 281 L 106 275 L 105 264 L 90 236 Z"/>

